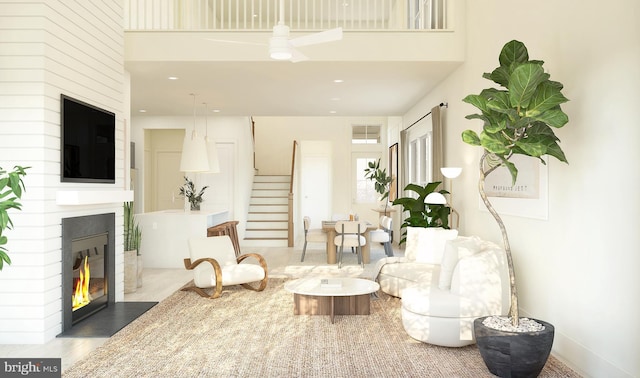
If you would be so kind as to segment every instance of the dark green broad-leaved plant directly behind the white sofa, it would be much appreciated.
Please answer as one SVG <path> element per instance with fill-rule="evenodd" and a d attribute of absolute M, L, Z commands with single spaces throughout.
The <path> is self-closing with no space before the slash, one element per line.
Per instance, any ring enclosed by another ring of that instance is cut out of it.
<path fill-rule="evenodd" d="M 406 241 L 407 227 L 442 227 L 449 228 L 449 213 L 451 208 L 445 204 L 431 204 L 425 203 L 424 200 L 431 193 L 436 192 L 436 189 L 442 182 L 430 182 L 425 186 L 417 184 L 409 184 L 404 190 L 414 192 L 416 197 L 401 197 L 393 201 L 394 205 L 401 205 L 402 212 L 409 212 L 407 218 L 404 219 L 400 228 L 404 229 L 402 238 L 399 244 Z M 448 194 L 446 190 L 439 190 L 437 193 L 442 195 Z"/>

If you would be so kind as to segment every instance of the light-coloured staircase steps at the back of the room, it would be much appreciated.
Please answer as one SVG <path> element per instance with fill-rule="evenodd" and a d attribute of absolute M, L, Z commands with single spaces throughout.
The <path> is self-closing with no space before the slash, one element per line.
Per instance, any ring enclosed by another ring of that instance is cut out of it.
<path fill-rule="evenodd" d="M 287 247 L 290 176 L 255 176 L 243 245 Z"/>

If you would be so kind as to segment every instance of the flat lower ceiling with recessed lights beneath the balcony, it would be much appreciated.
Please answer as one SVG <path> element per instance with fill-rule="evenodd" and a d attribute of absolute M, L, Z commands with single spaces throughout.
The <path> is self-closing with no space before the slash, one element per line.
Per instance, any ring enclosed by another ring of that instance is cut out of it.
<path fill-rule="evenodd" d="M 226 116 L 404 114 L 458 64 L 442 62 L 130 62 L 131 112 Z M 170 80 L 169 77 L 177 77 Z M 334 82 L 342 80 L 342 82 Z"/>

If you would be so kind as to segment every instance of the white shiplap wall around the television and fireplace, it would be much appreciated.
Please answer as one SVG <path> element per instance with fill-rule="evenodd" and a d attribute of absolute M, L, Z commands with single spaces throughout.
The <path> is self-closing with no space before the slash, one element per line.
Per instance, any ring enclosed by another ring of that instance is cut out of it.
<path fill-rule="evenodd" d="M 122 22 L 122 0 L 0 0 L 0 166 L 31 166 L 23 210 L 12 213 L 7 233 L 13 263 L 0 271 L 0 343 L 44 343 L 61 332 L 62 218 L 115 212 L 122 230 Z M 116 184 L 60 182 L 61 93 L 116 114 Z M 56 203 L 59 191 L 94 190 L 114 200 Z M 116 300 L 124 297 L 122 239 L 116 235 Z"/>

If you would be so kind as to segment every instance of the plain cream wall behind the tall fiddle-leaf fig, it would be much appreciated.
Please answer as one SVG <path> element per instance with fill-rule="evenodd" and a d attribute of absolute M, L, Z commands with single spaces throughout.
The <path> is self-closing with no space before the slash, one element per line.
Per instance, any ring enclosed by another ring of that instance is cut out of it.
<path fill-rule="evenodd" d="M 479 130 L 462 103 L 492 82 L 502 45 L 524 42 L 564 84 L 569 124 L 558 130 L 569 164 L 549 164 L 549 217 L 504 216 L 525 315 L 556 327 L 553 353 L 588 376 L 640 376 L 640 3 L 620 0 L 467 1 L 466 63 L 409 111 L 442 101 L 445 165 L 464 168 L 456 179 L 461 232 L 500 242 L 493 218 L 480 209 L 480 149 L 460 140 Z M 405 127 L 406 127 L 405 125 Z"/>

